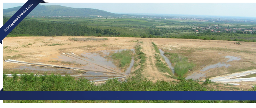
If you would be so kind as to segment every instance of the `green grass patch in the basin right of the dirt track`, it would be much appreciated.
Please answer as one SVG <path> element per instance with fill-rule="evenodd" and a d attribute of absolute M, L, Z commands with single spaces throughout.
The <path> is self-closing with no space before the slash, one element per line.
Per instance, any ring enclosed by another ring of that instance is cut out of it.
<path fill-rule="evenodd" d="M 187 57 L 184 57 L 177 53 L 164 53 L 164 55 L 174 64 L 174 72 L 182 77 L 188 72 L 189 69 L 192 70 L 195 64 L 189 62 Z"/>

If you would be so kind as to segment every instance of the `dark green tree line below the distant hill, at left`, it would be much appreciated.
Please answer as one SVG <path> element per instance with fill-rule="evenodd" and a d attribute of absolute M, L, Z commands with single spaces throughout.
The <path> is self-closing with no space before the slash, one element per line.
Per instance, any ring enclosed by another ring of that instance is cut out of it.
<path fill-rule="evenodd" d="M 9 18 L 4 17 L 4 23 Z M 8 36 L 118 36 L 115 29 L 87 27 L 79 23 L 23 20 Z"/>

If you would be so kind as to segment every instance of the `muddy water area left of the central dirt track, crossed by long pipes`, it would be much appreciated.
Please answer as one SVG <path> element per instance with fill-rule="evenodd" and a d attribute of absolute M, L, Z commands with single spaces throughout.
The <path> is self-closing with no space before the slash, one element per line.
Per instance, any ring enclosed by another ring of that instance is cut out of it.
<path fill-rule="evenodd" d="M 71 62 L 70 65 L 63 64 L 63 63 L 57 63 L 58 65 L 66 66 L 66 67 L 72 67 L 77 69 L 87 69 L 91 71 L 82 71 L 85 73 L 82 73 L 80 75 L 72 75 L 74 77 L 84 77 L 89 80 L 98 80 L 98 79 L 109 79 L 116 76 L 122 76 L 122 74 L 119 74 L 118 72 L 121 72 L 121 69 L 114 65 L 112 60 L 107 60 L 105 57 L 106 55 L 109 55 L 110 52 L 121 52 L 122 50 L 129 50 L 129 49 L 119 49 L 119 50 L 101 50 L 99 53 L 82 53 L 80 56 L 77 56 L 77 54 L 74 53 L 67 53 L 65 55 L 61 54 L 57 56 L 57 58 L 53 58 L 54 60 L 58 61 L 64 61 L 64 62 Z M 131 49 L 134 52 L 134 49 Z M 100 53 L 101 52 L 101 53 Z M 102 55 L 102 53 L 104 55 Z M 76 63 L 79 65 L 74 65 L 72 63 Z M 56 64 L 56 63 L 52 63 Z M 129 75 L 132 67 L 134 65 L 134 58 L 132 57 L 131 63 L 127 70 L 125 72 L 121 72 L 125 75 Z M 72 73 L 74 70 L 69 69 L 61 69 L 61 68 L 52 68 L 52 67 L 37 67 L 37 66 L 21 66 L 17 69 L 28 69 L 28 70 L 34 70 L 34 71 L 44 71 L 44 72 L 59 72 L 59 74 L 62 73 Z M 96 72 L 95 72 L 96 71 Z M 118 72 L 116 72 L 118 71 Z M 106 73 L 107 72 L 107 73 Z M 112 73 L 108 73 L 112 72 Z M 117 74 L 114 74 L 114 73 Z"/>

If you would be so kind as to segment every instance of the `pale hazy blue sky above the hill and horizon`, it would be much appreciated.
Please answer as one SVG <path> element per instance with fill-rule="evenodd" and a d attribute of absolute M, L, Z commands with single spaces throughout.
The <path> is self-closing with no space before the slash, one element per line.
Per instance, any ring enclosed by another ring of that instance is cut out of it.
<path fill-rule="evenodd" d="M 4 9 L 25 3 L 4 3 Z M 111 13 L 157 13 L 256 17 L 256 3 L 40 3 L 72 8 L 95 8 Z"/>

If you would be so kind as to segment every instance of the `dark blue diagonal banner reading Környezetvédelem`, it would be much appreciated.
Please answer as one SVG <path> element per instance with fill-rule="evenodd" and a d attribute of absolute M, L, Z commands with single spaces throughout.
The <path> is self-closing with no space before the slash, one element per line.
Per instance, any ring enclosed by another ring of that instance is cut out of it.
<path fill-rule="evenodd" d="M 0 29 L 1 41 L 43 0 L 29 0 Z"/>

